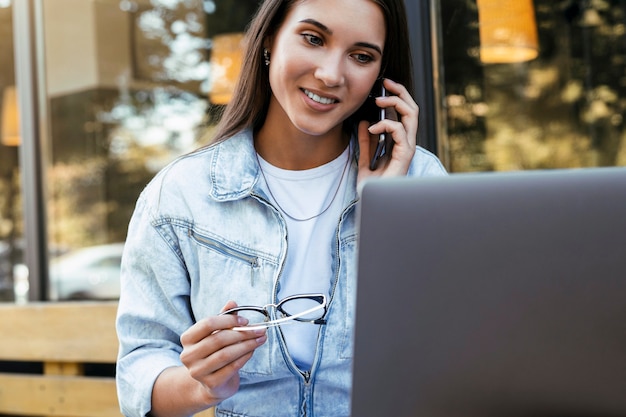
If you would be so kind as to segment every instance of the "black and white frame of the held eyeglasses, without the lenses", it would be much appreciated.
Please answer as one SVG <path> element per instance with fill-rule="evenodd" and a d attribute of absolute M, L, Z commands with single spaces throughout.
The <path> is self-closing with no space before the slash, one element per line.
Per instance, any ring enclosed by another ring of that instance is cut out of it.
<path fill-rule="evenodd" d="M 313 308 L 309 308 L 308 310 L 297 313 L 297 314 L 289 314 L 288 312 L 283 310 L 282 306 L 285 303 L 289 301 L 293 301 L 293 300 L 299 300 L 299 299 L 309 299 L 309 300 L 317 301 L 320 304 Z M 282 314 L 282 317 L 279 319 L 271 320 L 271 315 L 268 310 L 268 308 L 270 307 L 274 307 L 277 311 L 279 311 Z M 307 314 L 310 314 L 310 313 L 313 313 L 315 311 L 322 310 L 322 309 L 324 310 L 324 313 L 321 315 L 319 319 L 311 320 L 311 319 L 303 318 L 303 316 L 306 316 Z M 326 316 L 326 312 L 328 311 L 328 309 L 327 309 L 326 295 L 324 294 L 296 294 L 296 295 L 290 295 L 289 297 L 285 297 L 276 304 L 265 304 L 264 306 L 239 306 L 239 307 L 231 308 L 230 310 L 226 310 L 220 313 L 220 316 L 223 316 L 226 314 L 236 314 L 240 311 L 255 311 L 265 316 L 266 321 L 264 321 L 263 323 L 248 324 L 247 326 L 233 327 L 231 330 L 235 330 L 235 331 L 262 330 L 262 329 L 267 329 L 269 327 L 280 326 L 282 324 L 293 323 L 294 321 L 301 322 L 301 323 L 326 324 L 326 320 L 323 317 Z"/>

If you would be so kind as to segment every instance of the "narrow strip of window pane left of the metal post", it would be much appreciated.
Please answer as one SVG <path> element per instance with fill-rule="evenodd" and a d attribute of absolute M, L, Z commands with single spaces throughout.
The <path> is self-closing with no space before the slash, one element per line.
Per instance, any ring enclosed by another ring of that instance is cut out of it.
<path fill-rule="evenodd" d="M 20 181 L 20 128 L 13 56 L 13 8 L 0 0 L 0 301 L 24 302 L 24 224 Z"/>

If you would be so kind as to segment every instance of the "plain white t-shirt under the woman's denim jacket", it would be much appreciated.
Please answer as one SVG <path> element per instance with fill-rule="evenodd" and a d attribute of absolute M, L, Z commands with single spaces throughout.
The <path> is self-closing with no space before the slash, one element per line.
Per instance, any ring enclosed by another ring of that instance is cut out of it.
<path fill-rule="evenodd" d="M 268 191 L 287 222 L 288 250 L 279 282 L 279 300 L 305 293 L 330 296 L 335 273 L 331 252 L 343 209 L 349 159 L 348 146 L 325 165 L 291 171 L 277 168 L 259 156 L 266 181 L 261 187 Z M 319 326 L 303 322 L 281 326 L 289 353 L 302 370 L 310 369 L 313 363 Z"/>

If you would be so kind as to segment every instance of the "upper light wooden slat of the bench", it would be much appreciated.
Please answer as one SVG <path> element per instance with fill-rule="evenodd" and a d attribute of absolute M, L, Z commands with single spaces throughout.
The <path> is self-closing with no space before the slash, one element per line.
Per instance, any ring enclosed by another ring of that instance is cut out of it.
<path fill-rule="evenodd" d="M 0 304 L 1 360 L 114 363 L 117 302 Z"/>

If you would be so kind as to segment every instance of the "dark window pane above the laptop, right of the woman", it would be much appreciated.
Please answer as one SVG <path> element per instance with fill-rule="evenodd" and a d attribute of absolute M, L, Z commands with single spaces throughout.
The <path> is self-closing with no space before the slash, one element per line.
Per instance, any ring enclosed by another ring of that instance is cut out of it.
<path fill-rule="evenodd" d="M 451 0 L 439 8 L 441 156 L 451 171 L 626 165 L 623 1 Z M 525 30 L 537 56 L 514 62 L 505 47 L 527 42 L 513 35 Z M 485 55 L 490 45 L 500 56 Z"/>

